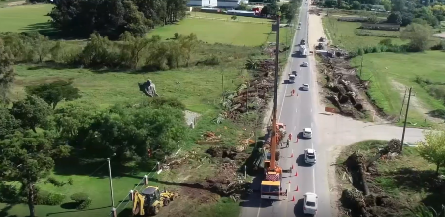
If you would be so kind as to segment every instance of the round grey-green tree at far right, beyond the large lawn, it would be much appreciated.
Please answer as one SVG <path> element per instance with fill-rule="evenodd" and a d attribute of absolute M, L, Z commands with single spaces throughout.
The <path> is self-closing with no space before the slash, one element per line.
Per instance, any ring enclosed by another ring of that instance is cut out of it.
<path fill-rule="evenodd" d="M 414 51 L 423 51 L 428 47 L 431 28 L 429 26 L 412 23 L 401 32 L 402 40 L 410 40 L 409 45 Z"/>

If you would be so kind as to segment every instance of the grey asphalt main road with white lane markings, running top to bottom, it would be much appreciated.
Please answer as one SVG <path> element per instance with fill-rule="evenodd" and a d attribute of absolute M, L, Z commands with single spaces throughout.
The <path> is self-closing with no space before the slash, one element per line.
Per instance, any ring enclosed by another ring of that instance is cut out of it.
<path fill-rule="evenodd" d="M 299 22 L 302 23 L 301 29 L 297 30 L 293 45 L 290 64 L 283 72 L 282 84 L 279 85 L 278 93 L 278 120 L 286 124 L 287 133 L 292 133 L 293 138 L 288 148 L 280 150 L 279 165 L 283 169 L 294 167 L 293 173 L 283 173 L 281 182 L 283 191 L 288 189 L 287 200 L 274 201 L 261 200 L 259 193 L 254 193 L 248 201 L 242 202 L 242 217 L 299 217 L 303 216 L 303 195 L 306 192 L 318 194 L 318 212 L 316 216 L 331 216 L 330 195 L 327 176 L 328 162 L 323 145 L 320 144 L 317 134 L 319 131 L 315 123 L 317 94 L 316 78 L 312 77 L 311 64 L 303 67 L 304 61 L 309 62 L 308 57 L 302 58 L 298 55 L 299 43 L 302 38 L 306 40 L 308 47 L 308 4 L 303 2 L 300 8 Z M 309 3 L 309 2 L 308 2 Z M 309 48 L 309 47 L 308 47 Z M 313 58 L 312 58 L 313 59 Z M 287 76 L 292 71 L 297 71 L 297 79 L 293 84 L 287 83 Z M 284 81 L 284 82 L 283 82 Z M 309 91 L 301 89 L 303 84 L 309 84 Z M 295 89 L 295 95 L 291 96 L 292 89 Z M 302 129 L 312 128 L 313 138 L 303 139 Z M 298 137 L 298 142 L 296 138 Z M 317 151 L 317 163 L 315 165 L 306 165 L 304 163 L 304 150 L 313 148 Z M 293 153 L 293 157 L 291 155 Z M 297 176 L 296 176 L 297 175 Z M 289 184 L 290 181 L 290 184 Z M 259 180 L 254 180 L 259 188 Z M 298 191 L 297 191 L 298 186 Z M 292 199 L 295 197 L 295 201 Z"/>

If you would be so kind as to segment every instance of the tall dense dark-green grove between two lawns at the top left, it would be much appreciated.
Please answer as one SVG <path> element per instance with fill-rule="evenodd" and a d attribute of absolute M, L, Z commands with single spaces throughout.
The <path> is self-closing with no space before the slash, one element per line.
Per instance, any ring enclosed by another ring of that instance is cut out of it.
<path fill-rule="evenodd" d="M 155 25 L 184 18 L 187 0 L 55 0 L 54 4 L 48 15 L 65 36 L 97 32 L 116 39 L 126 31 L 143 36 Z"/>

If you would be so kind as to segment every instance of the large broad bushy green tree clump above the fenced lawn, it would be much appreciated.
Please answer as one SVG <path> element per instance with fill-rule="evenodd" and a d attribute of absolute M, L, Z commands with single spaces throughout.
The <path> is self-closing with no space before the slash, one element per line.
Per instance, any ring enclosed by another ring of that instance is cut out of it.
<path fill-rule="evenodd" d="M 92 157 L 116 153 L 119 162 L 145 158 L 148 149 L 170 154 L 188 135 L 182 109 L 172 105 L 146 99 L 115 105 L 92 118 L 72 144 Z"/>

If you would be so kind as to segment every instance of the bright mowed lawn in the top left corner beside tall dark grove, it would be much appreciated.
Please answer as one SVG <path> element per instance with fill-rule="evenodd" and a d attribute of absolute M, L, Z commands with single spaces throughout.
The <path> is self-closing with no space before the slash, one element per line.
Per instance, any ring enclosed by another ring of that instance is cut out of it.
<path fill-rule="evenodd" d="M 50 30 L 46 16 L 52 4 L 24 5 L 0 8 L 0 32 L 27 32 Z"/>

